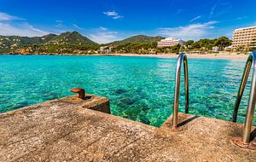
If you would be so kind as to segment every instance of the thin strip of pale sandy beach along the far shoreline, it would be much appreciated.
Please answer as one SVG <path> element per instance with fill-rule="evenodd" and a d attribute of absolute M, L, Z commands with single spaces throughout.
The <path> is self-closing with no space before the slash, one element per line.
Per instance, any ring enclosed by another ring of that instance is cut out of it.
<path fill-rule="evenodd" d="M 0 55 L 71 55 L 71 56 L 138 56 L 138 57 L 155 57 L 155 58 L 177 58 L 176 54 L 0 54 Z M 224 54 L 187 54 L 189 58 L 198 59 L 232 59 L 232 60 L 246 60 L 248 55 L 224 55 Z"/>

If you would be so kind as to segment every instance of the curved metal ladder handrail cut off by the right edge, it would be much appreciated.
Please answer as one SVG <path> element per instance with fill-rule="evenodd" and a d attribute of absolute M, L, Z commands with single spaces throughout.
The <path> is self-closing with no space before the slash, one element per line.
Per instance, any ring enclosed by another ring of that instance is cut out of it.
<path fill-rule="evenodd" d="M 253 66 L 253 78 L 252 78 L 252 84 L 251 84 L 250 97 L 247 104 L 247 116 L 245 119 L 243 135 L 242 135 L 242 142 L 244 143 L 250 142 L 250 134 L 251 134 L 251 129 L 253 125 L 253 115 L 254 115 L 255 101 L 256 101 L 256 51 L 252 52 L 247 58 L 247 64 L 244 69 L 244 72 L 241 78 L 240 88 L 236 97 L 236 104 L 235 104 L 233 119 L 232 119 L 233 122 L 236 122 L 238 108 L 241 103 L 241 97 L 243 95 L 243 91 L 247 84 L 247 78 L 249 76 L 252 66 Z"/>

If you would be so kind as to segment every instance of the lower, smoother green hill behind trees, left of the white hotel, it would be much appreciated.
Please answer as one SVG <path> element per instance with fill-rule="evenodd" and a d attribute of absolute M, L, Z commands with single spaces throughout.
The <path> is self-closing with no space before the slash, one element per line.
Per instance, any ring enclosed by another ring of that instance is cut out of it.
<path fill-rule="evenodd" d="M 131 38 L 126 38 L 121 41 L 114 41 L 113 43 L 108 43 L 112 45 L 123 45 L 126 43 L 153 43 L 158 42 L 160 39 L 163 39 L 163 37 L 156 36 L 156 37 L 149 37 L 144 35 L 138 35 L 138 36 L 132 36 Z"/>

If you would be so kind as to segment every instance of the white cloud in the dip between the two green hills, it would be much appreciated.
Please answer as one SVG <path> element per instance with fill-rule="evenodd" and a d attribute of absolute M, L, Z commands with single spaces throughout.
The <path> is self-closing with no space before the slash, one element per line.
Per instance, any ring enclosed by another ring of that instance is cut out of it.
<path fill-rule="evenodd" d="M 119 37 L 118 32 L 109 31 L 107 28 L 100 26 L 95 33 L 90 34 L 89 38 L 96 43 L 110 43 L 122 38 Z"/>

